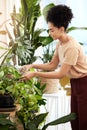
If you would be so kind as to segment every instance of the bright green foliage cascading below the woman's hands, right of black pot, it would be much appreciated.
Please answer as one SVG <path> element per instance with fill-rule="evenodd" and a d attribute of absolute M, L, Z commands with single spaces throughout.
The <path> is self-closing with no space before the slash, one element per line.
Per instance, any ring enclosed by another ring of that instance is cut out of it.
<path fill-rule="evenodd" d="M 45 105 L 46 102 L 42 97 L 40 83 L 34 84 L 28 81 L 21 89 L 22 92 L 19 89 L 21 109 L 17 112 L 17 115 L 23 123 L 24 129 L 27 130 L 29 122 L 37 116 L 40 111 L 40 106 Z"/>

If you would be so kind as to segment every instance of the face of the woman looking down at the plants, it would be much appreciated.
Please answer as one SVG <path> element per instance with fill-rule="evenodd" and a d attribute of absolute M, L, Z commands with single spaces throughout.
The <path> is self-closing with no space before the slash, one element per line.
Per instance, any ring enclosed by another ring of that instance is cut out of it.
<path fill-rule="evenodd" d="M 48 22 L 49 35 L 54 39 L 60 39 L 62 35 L 62 27 L 55 27 L 51 22 Z"/>

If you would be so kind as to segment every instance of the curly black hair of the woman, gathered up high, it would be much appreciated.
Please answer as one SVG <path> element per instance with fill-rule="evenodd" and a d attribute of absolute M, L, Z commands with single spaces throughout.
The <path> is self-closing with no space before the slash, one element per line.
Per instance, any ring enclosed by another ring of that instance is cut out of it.
<path fill-rule="evenodd" d="M 68 6 L 55 5 L 47 12 L 46 21 L 52 22 L 58 28 L 63 26 L 66 30 L 72 18 L 73 13 Z"/>

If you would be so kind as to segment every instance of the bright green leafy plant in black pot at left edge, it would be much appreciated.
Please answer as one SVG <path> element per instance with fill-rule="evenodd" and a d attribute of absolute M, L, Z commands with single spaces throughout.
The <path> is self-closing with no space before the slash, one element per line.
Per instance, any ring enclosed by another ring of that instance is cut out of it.
<path fill-rule="evenodd" d="M 19 76 L 20 74 L 13 66 L 0 66 L 0 108 L 14 107 L 14 97 L 11 91 Z"/>

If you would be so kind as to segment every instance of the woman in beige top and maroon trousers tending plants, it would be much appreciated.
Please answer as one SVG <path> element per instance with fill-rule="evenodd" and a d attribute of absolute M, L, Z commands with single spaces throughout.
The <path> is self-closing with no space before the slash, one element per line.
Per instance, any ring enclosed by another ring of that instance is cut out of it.
<path fill-rule="evenodd" d="M 87 130 L 87 58 L 82 46 L 66 33 L 66 29 L 73 18 L 72 11 L 65 5 L 52 7 L 47 14 L 49 34 L 56 44 L 54 56 L 50 63 L 25 65 L 26 73 L 22 80 L 33 77 L 62 78 L 70 77 L 71 83 L 71 112 L 77 114 L 76 120 L 71 122 L 72 130 Z M 61 65 L 58 71 L 54 71 Z M 30 68 L 51 70 L 50 72 L 28 72 Z M 22 70 L 22 69 L 21 69 Z"/>

